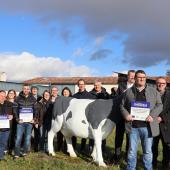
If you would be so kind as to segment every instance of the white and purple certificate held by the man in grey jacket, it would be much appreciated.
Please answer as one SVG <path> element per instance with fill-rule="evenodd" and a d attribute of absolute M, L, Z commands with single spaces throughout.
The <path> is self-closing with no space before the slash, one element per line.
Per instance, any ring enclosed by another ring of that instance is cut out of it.
<path fill-rule="evenodd" d="M 149 102 L 131 102 L 131 112 L 133 120 L 145 121 L 150 113 Z"/>

